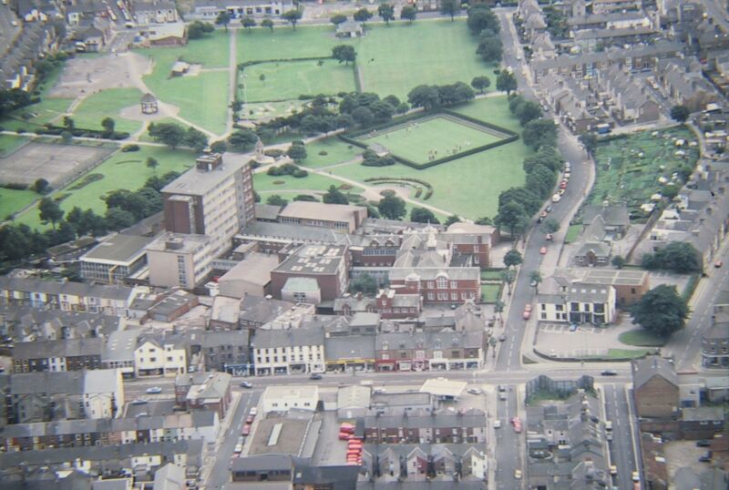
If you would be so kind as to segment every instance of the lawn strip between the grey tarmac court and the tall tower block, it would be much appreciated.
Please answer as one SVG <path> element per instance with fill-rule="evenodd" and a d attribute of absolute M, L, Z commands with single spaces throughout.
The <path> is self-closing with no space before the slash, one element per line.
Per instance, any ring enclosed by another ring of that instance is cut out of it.
<path fill-rule="evenodd" d="M 157 158 L 159 167 L 156 168 L 157 175 L 176 170 L 183 172 L 194 163 L 194 155 L 187 150 L 170 149 L 161 147 L 141 147 L 139 151 L 114 153 L 105 162 L 90 173 L 101 174 L 103 179 L 95 180 L 83 186 L 81 189 L 70 189 L 77 187 L 85 176 L 71 182 L 66 188 L 60 189 L 51 195 L 53 198 L 66 195 L 61 200 L 61 209 L 69 211 L 74 206 L 81 209 L 93 209 L 97 214 L 104 214 L 107 204 L 102 198 L 110 191 L 116 189 L 137 190 L 155 174 L 155 170 L 146 165 L 147 158 Z M 19 222 L 35 228 L 45 228 L 38 219 L 38 211 L 34 207 L 23 213 L 17 219 Z"/>

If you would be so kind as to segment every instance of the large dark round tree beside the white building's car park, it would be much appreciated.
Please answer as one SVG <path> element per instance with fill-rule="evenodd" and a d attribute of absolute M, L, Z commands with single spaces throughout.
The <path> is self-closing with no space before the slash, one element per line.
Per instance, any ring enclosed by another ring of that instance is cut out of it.
<path fill-rule="evenodd" d="M 668 339 L 673 332 L 683 329 L 689 307 L 675 286 L 661 284 L 643 294 L 641 301 L 632 306 L 631 315 L 633 324 Z"/>

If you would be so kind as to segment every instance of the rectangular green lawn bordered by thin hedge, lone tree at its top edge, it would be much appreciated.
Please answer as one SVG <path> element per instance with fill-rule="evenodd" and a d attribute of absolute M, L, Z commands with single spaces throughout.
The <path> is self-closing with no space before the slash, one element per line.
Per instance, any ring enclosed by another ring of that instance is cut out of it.
<path fill-rule="evenodd" d="M 331 59 L 322 66 L 314 60 L 246 66 L 238 83 L 245 83 L 241 99 L 248 102 L 294 100 L 301 95 L 322 93 L 335 96 L 339 92 L 354 92 L 355 88 L 353 66 Z"/>

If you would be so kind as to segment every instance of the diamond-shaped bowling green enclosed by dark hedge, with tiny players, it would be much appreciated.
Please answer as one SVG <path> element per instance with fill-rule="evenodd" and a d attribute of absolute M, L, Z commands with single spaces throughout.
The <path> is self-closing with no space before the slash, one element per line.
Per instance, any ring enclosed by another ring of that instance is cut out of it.
<path fill-rule="evenodd" d="M 438 116 L 386 128 L 377 131 L 373 137 L 357 139 L 368 145 L 380 144 L 398 157 L 424 164 L 503 138 L 486 128 L 477 128 L 454 117 Z"/>

